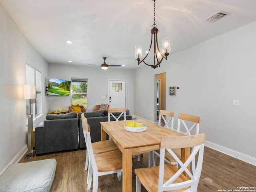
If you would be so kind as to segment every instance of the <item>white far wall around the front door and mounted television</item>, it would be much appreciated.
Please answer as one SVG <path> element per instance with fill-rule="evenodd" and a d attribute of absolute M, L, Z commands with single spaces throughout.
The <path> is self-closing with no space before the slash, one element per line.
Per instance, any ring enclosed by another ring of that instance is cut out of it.
<path fill-rule="evenodd" d="M 71 77 L 88 78 L 88 109 L 100 103 L 108 103 L 108 98 L 102 99 L 102 96 L 108 95 L 108 80 L 126 80 L 126 108 L 133 114 L 134 72 L 120 68 L 110 67 L 103 71 L 100 66 L 49 64 L 49 76 L 64 80 L 70 80 Z M 48 101 L 49 111 L 55 106 L 68 110 L 68 106 L 71 105 L 71 94 L 69 97 L 48 96 Z"/>

